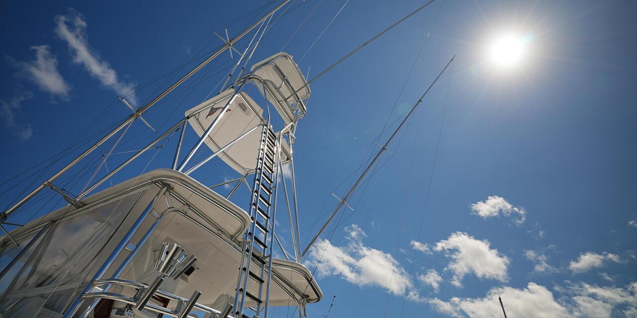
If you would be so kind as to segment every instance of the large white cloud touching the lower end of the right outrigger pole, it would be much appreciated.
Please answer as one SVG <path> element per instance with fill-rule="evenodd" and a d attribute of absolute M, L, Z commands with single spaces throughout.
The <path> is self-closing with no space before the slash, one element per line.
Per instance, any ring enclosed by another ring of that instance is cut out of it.
<path fill-rule="evenodd" d="M 310 249 L 308 263 L 317 265 L 319 276 L 341 275 L 359 286 L 379 286 L 402 295 L 412 287 L 408 273 L 387 252 L 362 244 L 365 232 L 357 225 L 345 228 L 348 244 L 334 246 L 329 240 L 317 240 Z M 320 261 L 319 261 L 320 259 Z"/>

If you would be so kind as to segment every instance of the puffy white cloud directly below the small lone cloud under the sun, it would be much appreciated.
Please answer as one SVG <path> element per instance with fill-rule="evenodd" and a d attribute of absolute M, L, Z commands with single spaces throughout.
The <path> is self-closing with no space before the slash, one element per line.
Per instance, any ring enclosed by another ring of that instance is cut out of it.
<path fill-rule="evenodd" d="M 496 279 L 506 282 L 506 266 L 511 262 L 497 249 L 491 249 L 488 240 L 476 240 L 467 233 L 452 233 L 447 240 L 436 243 L 436 251 L 445 251 L 452 259 L 445 270 L 454 273 L 452 284 L 462 286 L 462 277 L 473 273 L 480 279 Z"/>

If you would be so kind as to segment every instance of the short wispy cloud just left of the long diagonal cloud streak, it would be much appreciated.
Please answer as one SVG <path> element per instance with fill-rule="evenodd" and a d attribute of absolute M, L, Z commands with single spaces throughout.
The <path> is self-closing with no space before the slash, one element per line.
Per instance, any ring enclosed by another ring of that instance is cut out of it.
<path fill-rule="evenodd" d="M 36 52 L 35 60 L 31 62 L 15 62 L 20 68 L 20 75 L 28 78 L 38 87 L 62 100 L 69 99 L 71 86 L 64 81 L 57 70 L 57 58 L 50 52 L 48 45 L 32 46 Z"/>

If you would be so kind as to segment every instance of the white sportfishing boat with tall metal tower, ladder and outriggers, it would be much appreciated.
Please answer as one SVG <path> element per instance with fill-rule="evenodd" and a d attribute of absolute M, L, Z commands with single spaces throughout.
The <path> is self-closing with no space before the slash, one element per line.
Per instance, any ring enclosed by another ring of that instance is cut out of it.
<path fill-rule="evenodd" d="M 2 237 L 1 318 L 266 318 L 274 307 L 294 307 L 299 317 L 307 316 L 307 305 L 320 301 L 323 293 L 303 263 L 309 245 L 303 250 L 299 239 L 293 148 L 297 125 L 307 112 L 310 81 L 285 52 L 247 67 L 273 15 L 288 3 L 282 1 L 238 36 L 224 39 L 221 48 L 147 104 L 134 109 L 121 97 L 133 110 L 130 116 L 0 214 L 0 225 L 11 225 L 11 214 L 44 190 L 67 202 Z M 237 51 L 234 45 L 248 34 L 250 44 Z M 124 134 L 134 121 L 148 125 L 143 114 L 150 107 L 222 52 L 233 50 L 237 62 L 217 95 L 190 107 L 182 120 L 97 181 L 91 178 L 81 193 L 55 185 L 58 177 L 104 142 Z M 412 112 L 420 102 L 422 98 Z M 182 146 L 187 144 L 187 129 L 198 139 L 186 151 Z M 104 187 L 173 135 L 178 142 L 169 167 Z M 204 148 L 210 155 L 196 162 L 197 151 Z M 196 172 L 213 160 L 241 177 L 213 185 L 198 181 Z M 329 220 L 348 206 L 357 184 L 340 199 Z M 216 191 L 222 186 L 231 189 L 225 196 Z M 236 197 L 243 186 L 249 195 Z M 285 209 L 280 209 L 282 201 Z M 278 218 L 289 219 L 287 240 L 294 251 L 283 249 L 277 212 Z"/>

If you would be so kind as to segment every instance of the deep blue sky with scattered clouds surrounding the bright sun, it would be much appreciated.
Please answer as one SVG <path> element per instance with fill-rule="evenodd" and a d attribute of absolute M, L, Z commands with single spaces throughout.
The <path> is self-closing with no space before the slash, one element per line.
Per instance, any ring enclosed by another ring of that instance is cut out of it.
<path fill-rule="evenodd" d="M 213 50 L 222 43 L 211 30 L 262 4 L 3 3 L 1 181 L 127 116 L 113 102 L 117 94 Z M 299 6 L 266 34 L 252 61 L 287 43 L 284 50 L 298 62 L 343 4 Z M 420 5 L 348 1 L 299 66 L 313 77 Z M 336 205 L 330 192 L 348 190 L 347 176 L 388 116 L 389 123 L 404 116 L 457 55 L 390 145 L 394 155 L 383 155 L 382 168 L 350 201 L 355 212 L 344 211 L 306 259 L 317 265 L 326 251 L 316 274 L 325 297 L 308 315 L 499 317 L 501 295 L 512 317 L 637 317 L 635 9 L 629 1 L 438 0 L 317 79 L 295 144 L 303 242 Z M 229 33 L 254 17 L 230 25 Z M 524 37 L 526 54 L 517 66 L 497 66 L 487 52 L 511 32 Z M 197 86 L 145 118 L 169 128 L 211 93 L 229 61 L 225 53 L 192 81 Z M 161 78 L 128 98 L 142 104 L 170 82 Z M 153 138 L 136 123 L 116 152 Z M 113 183 L 166 167 L 172 155 L 152 151 Z M 113 155 L 107 165 L 123 159 Z M 90 160 L 94 167 L 99 154 Z M 2 184 L 3 205 L 52 172 L 15 187 Z M 77 193 L 91 173 L 61 184 Z M 234 176 L 214 163 L 200 177 Z M 55 200 L 14 221 L 59 207 Z M 276 317 L 288 314 L 277 311 Z"/>

